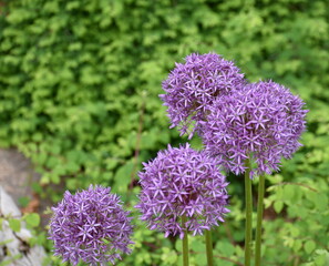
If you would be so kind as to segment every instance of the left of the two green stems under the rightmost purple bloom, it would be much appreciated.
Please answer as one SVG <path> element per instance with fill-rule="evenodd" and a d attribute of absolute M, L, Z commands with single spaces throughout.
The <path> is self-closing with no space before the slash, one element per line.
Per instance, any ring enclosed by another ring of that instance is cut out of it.
<path fill-rule="evenodd" d="M 250 180 L 250 161 L 246 160 L 245 194 L 246 194 L 246 235 L 245 235 L 245 266 L 250 266 L 253 238 L 253 198 Z"/>

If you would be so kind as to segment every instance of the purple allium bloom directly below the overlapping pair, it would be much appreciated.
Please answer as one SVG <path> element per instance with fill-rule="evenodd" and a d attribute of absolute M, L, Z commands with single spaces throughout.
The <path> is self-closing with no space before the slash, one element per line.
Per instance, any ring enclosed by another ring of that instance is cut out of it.
<path fill-rule="evenodd" d="M 142 221 L 151 229 L 158 229 L 165 236 L 184 231 L 202 234 L 219 222 L 229 211 L 227 205 L 227 182 L 217 167 L 217 161 L 204 152 L 185 146 L 161 151 L 154 161 L 144 163 L 140 172 L 142 192 L 140 204 Z M 182 216 L 187 222 L 182 226 Z"/>

